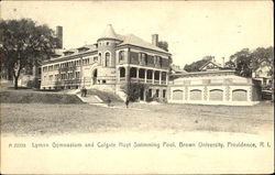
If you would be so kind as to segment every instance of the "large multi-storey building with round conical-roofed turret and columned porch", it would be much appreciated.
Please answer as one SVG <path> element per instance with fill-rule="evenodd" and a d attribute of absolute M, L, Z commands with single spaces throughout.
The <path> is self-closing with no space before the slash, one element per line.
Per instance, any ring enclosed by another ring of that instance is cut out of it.
<path fill-rule="evenodd" d="M 141 83 L 140 99 L 156 96 L 166 99 L 172 55 L 152 43 L 129 34 L 117 34 L 108 25 L 92 45 L 64 51 L 42 65 L 42 89 L 98 88 L 123 96 L 127 83 Z"/>

